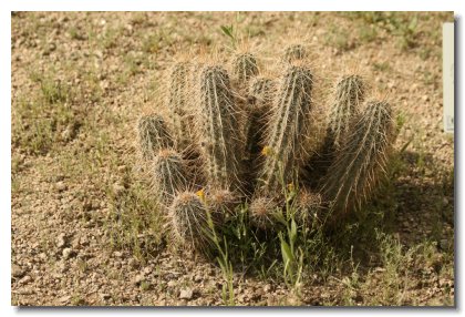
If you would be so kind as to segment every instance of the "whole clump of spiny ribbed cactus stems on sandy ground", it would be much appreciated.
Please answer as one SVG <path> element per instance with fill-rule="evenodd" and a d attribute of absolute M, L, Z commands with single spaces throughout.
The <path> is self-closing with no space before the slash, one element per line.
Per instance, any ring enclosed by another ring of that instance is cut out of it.
<path fill-rule="evenodd" d="M 205 247 L 211 224 L 221 227 L 238 206 L 269 231 L 289 203 L 306 225 L 371 197 L 394 141 L 391 106 L 366 100 L 359 74 L 338 79 L 331 101 L 318 104 L 308 55 L 303 44 L 286 48 L 277 75 L 250 51 L 170 68 L 169 115 L 144 115 L 136 130 L 154 197 L 179 242 Z"/>

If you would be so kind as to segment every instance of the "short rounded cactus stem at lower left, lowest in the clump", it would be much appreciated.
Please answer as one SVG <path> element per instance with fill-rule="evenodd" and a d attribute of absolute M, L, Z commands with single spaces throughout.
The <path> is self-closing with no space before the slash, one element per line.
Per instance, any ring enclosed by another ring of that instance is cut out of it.
<path fill-rule="evenodd" d="M 182 244 L 203 249 L 210 243 L 208 212 L 204 202 L 190 192 L 179 193 L 168 209 L 174 237 Z"/>

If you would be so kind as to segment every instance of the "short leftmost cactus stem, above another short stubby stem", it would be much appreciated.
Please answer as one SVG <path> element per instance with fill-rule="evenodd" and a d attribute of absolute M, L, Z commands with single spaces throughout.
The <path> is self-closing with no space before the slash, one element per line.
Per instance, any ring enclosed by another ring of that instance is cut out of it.
<path fill-rule="evenodd" d="M 162 149 L 174 146 L 172 136 L 162 116 L 144 115 L 137 121 L 138 149 L 144 160 L 151 161 Z"/>

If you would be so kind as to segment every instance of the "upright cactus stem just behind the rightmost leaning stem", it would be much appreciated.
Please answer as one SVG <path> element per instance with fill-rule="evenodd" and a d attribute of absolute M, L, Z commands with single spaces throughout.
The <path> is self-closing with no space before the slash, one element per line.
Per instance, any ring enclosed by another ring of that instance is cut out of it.
<path fill-rule="evenodd" d="M 365 85 L 359 75 L 344 76 L 335 88 L 334 102 L 331 106 L 328 130 L 331 146 L 339 149 L 347 136 L 350 123 L 360 113 L 360 105 L 364 100 Z"/>

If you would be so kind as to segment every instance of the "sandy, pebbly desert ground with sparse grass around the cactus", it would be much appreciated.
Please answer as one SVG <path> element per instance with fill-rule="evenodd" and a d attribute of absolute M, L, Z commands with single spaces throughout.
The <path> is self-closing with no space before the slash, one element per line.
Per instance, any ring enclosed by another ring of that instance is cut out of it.
<path fill-rule="evenodd" d="M 446 21 L 452 12 L 13 13 L 11 304 L 454 306 Z M 298 283 L 259 247 L 228 275 L 173 245 L 135 172 L 134 127 L 157 111 L 164 71 L 176 54 L 228 47 L 221 27 L 265 61 L 302 41 L 323 80 L 356 69 L 396 113 L 389 182 L 316 243 Z"/>

